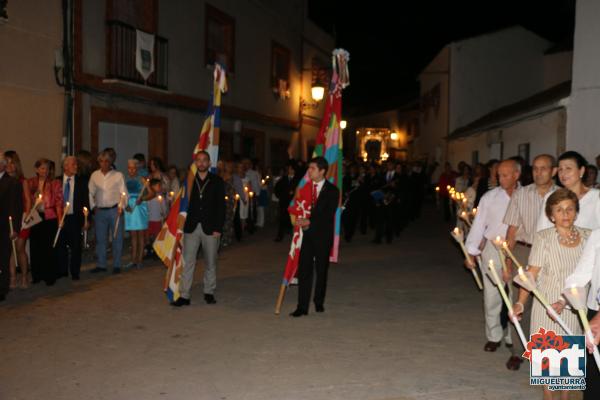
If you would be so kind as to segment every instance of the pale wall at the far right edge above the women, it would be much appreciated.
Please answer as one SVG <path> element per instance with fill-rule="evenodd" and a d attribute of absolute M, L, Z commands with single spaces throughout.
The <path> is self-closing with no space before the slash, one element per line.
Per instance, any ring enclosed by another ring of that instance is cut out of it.
<path fill-rule="evenodd" d="M 600 154 L 600 2 L 578 0 L 567 148 L 588 160 Z"/>

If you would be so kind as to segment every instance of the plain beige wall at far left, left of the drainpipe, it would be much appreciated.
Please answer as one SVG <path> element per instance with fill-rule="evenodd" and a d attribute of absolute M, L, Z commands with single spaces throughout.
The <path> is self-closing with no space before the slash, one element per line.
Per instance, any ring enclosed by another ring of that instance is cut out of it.
<path fill-rule="evenodd" d="M 15 150 L 27 177 L 40 157 L 60 165 L 64 91 L 54 79 L 62 43 L 59 0 L 8 2 L 0 24 L 0 150 Z"/>

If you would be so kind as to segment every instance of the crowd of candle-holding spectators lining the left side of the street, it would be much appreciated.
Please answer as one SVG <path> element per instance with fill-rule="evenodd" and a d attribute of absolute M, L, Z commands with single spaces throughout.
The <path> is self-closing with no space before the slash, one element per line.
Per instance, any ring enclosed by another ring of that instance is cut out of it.
<path fill-rule="evenodd" d="M 116 157 L 112 148 L 97 157 L 80 151 L 63 160 L 61 175 L 53 161 L 40 158 L 35 175 L 26 178 L 15 151 L 0 153 L 0 240 L 7 244 L 0 246 L 0 259 L 8 260 L 0 265 L 0 300 L 31 284 L 80 280 L 86 248 L 94 253 L 92 273 L 107 272 L 110 258 L 111 272 L 118 274 L 156 257 L 152 243 L 186 171 L 166 168 L 157 157 L 146 162 L 143 154 L 132 155 L 127 170 L 118 171 Z M 219 161 L 216 167 L 225 190 L 222 248 L 265 225 L 274 179 L 250 159 Z M 122 268 L 126 238 L 131 255 Z"/>

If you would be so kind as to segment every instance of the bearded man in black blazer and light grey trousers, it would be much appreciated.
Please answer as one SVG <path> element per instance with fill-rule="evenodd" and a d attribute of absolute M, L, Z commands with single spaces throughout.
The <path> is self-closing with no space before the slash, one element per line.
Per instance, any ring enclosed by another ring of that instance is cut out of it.
<path fill-rule="evenodd" d="M 183 226 L 183 273 L 179 286 L 181 297 L 171 303 L 175 307 L 190 304 L 190 291 L 196 269 L 196 255 L 202 244 L 204 255 L 204 301 L 215 304 L 217 287 L 217 251 L 225 224 L 225 183 L 218 175 L 208 172 L 210 156 L 196 153 L 198 171 L 188 178 L 189 205 Z"/>

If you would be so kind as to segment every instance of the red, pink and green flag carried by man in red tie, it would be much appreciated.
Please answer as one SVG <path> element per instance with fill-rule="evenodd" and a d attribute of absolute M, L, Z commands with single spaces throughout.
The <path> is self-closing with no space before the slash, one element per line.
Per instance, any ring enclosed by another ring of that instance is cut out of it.
<path fill-rule="evenodd" d="M 325 103 L 325 114 L 321 121 L 321 127 L 315 142 L 313 157 L 325 157 L 329 163 L 327 170 L 327 179 L 340 189 L 342 193 L 342 90 L 350 84 L 350 75 L 348 72 L 348 61 L 350 54 L 343 49 L 335 49 L 332 56 L 332 76 L 329 85 L 329 94 Z M 312 199 L 312 187 L 306 183 L 310 181 L 308 175 L 304 175 L 298 187 L 296 194 L 290 203 L 288 212 L 294 224 L 294 235 L 292 244 L 288 253 L 285 271 L 283 273 L 283 282 L 279 290 L 279 297 L 275 306 L 275 314 L 279 314 L 285 290 L 298 271 L 298 262 L 300 259 L 300 249 L 302 248 L 302 229 L 295 224 L 296 218 L 310 218 L 310 204 Z M 335 213 L 335 230 L 333 247 L 331 248 L 330 260 L 338 261 L 340 244 L 340 221 L 341 221 L 341 197 L 338 208 Z"/>

